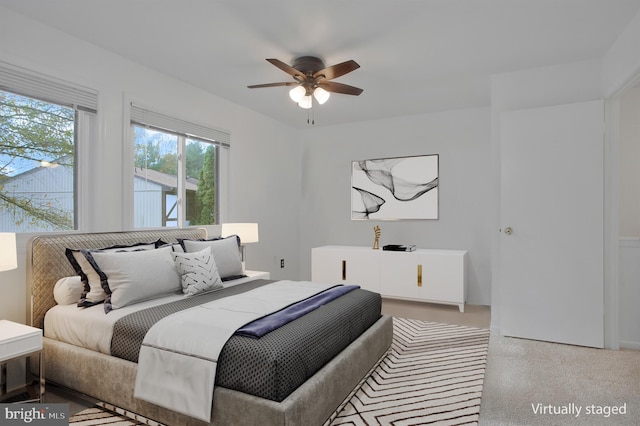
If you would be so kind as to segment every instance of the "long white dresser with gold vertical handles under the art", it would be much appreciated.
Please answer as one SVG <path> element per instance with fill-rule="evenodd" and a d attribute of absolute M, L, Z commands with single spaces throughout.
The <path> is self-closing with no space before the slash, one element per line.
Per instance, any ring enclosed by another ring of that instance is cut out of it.
<path fill-rule="evenodd" d="M 466 257 L 465 250 L 315 247 L 311 249 L 311 280 L 357 284 L 383 297 L 457 305 L 464 312 Z"/>

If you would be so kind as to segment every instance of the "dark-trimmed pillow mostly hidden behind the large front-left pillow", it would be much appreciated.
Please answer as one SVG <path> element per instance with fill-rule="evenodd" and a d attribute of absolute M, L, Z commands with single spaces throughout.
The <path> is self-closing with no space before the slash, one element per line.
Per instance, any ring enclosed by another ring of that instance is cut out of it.
<path fill-rule="evenodd" d="M 104 299 L 107 298 L 107 294 L 102 289 L 100 277 L 98 276 L 93 266 L 91 266 L 91 264 L 86 259 L 85 253 L 87 251 L 120 253 L 138 250 L 153 250 L 155 248 L 155 243 L 136 243 L 130 246 L 117 245 L 92 250 L 75 250 L 69 248 L 66 249 L 65 254 L 67 256 L 67 259 L 69 260 L 69 263 L 71 263 L 71 266 L 73 266 L 76 274 L 80 275 L 80 278 L 84 283 L 84 291 L 79 300 L 77 300 L 78 306 L 83 307 L 97 305 L 98 303 L 102 303 Z"/>

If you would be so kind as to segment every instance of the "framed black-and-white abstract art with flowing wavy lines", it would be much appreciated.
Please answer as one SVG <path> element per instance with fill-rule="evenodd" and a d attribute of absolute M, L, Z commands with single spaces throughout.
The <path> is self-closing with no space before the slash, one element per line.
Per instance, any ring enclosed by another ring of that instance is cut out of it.
<path fill-rule="evenodd" d="M 438 219 L 438 155 L 351 163 L 351 219 Z"/>

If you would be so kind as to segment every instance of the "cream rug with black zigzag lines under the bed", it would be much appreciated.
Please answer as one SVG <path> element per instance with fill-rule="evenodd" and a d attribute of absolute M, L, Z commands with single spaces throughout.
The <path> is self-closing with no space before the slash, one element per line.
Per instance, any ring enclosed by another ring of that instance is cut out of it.
<path fill-rule="evenodd" d="M 393 319 L 393 343 L 325 426 L 478 424 L 489 330 Z M 160 425 L 108 404 L 70 419 L 84 425 Z"/>

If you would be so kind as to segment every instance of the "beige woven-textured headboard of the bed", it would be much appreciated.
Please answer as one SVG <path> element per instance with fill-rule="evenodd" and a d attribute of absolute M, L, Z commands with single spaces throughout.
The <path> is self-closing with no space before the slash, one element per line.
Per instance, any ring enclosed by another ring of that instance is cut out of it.
<path fill-rule="evenodd" d="M 203 228 L 159 229 L 92 234 L 52 234 L 31 238 L 27 246 L 27 317 L 34 327 L 43 328 L 44 314 L 56 302 L 53 288 L 63 277 L 76 275 L 65 256 L 65 249 L 95 249 L 114 245 L 154 242 L 172 243 L 178 238 L 205 238 Z"/>

